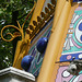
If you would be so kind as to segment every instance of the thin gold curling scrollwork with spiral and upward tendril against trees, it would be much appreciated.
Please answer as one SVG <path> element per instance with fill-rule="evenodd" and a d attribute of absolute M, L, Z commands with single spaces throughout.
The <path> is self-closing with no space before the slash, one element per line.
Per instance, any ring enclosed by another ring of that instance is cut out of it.
<path fill-rule="evenodd" d="M 5 40 L 5 42 L 11 42 L 11 40 L 13 40 L 15 37 L 19 37 L 19 36 L 22 36 L 22 40 L 24 40 L 23 27 L 24 27 L 24 24 L 26 23 L 26 20 L 28 19 L 28 16 L 30 16 L 30 15 L 32 14 L 32 12 L 34 11 L 35 7 L 36 7 L 36 2 L 35 2 L 35 4 L 34 4 L 33 9 L 31 10 L 31 12 L 27 14 L 27 16 L 26 16 L 26 19 L 25 19 L 25 21 L 24 21 L 24 23 L 23 23 L 22 26 L 20 25 L 20 23 L 19 23 L 19 21 L 17 21 L 19 27 L 16 27 L 16 26 L 14 26 L 14 25 L 7 25 L 7 26 L 4 26 L 4 27 L 1 30 L 1 37 L 2 37 L 3 40 Z M 3 31 L 4 31 L 5 28 L 8 28 L 8 27 L 13 27 L 13 28 L 16 28 L 16 30 L 19 31 L 19 32 L 15 32 L 15 33 L 13 33 L 13 34 L 7 33 L 7 35 L 10 35 L 10 36 L 11 36 L 10 39 L 5 39 L 5 38 L 3 37 L 3 35 L 2 35 L 2 34 L 3 34 Z"/>

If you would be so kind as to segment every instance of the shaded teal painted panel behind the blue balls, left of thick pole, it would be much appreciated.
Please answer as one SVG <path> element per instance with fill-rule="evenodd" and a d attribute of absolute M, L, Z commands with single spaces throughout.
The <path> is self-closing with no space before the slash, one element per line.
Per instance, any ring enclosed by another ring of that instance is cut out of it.
<path fill-rule="evenodd" d="M 52 20 L 51 19 L 47 25 L 44 27 L 43 31 L 40 31 L 40 33 L 33 39 L 32 44 L 33 46 L 30 48 L 30 51 L 28 51 L 28 55 L 33 56 L 34 59 L 32 61 L 32 65 L 31 65 L 31 68 L 28 70 L 28 72 L 31 72 L 32 74 L 34 74 L 36 78 L 38 77 L 39 74 L 39 70 L 40 70 L 40 67 L 42 67 L 42 63 L 43 63 L 43 59 L 44 59 L 44 56 L 45 56 L 45 52 L 44 54 L 40 54 L 37 48 L 36 48 L 36 44 L 38 42 L 38 39 L 40 37 L 47 37 L 49 39 L 49 36 L 50 36 L 50 31 L 51 31 L 51 27 L 52 27 Z M 40 37 L 39 37 L 40 36 Z"/>

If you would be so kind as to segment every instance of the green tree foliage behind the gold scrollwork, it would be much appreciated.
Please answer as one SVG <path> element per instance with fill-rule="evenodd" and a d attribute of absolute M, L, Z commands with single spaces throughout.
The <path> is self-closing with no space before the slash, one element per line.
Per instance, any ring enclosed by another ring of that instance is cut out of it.
<path fill-rule="evenodd" d="M 20 24 L 22 25 L 23 22 L 25 21 L 27 13 L 33 8 L 33 4 L 34 0 L 0 0 L 0 31 L 5 25 L 9 24 L 16 25 L 16 21 L 19 21 Z M 31 16 L 26 21 L 24 31 L 28 26 L 30 20 Z M 8 32 L 14 32 L 14 30 L 12 28 L 5 30 L 3 33 L 4 37 L 7 37 L 5 33 Z M 14 52 L 13 44 L 16 44 L 16 42 L 7 43 L 2 40 L 0 33 L 0 70 L 12 66 Z"/>

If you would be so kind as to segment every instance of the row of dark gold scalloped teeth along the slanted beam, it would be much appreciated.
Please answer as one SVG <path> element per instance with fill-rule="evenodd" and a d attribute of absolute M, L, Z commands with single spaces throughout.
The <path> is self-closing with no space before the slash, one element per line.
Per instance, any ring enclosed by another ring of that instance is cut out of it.
<path fill-rule="evenodd" d="M 45 12 L 42 12 L 40 16 L 37 16 L 37 21 L 33 21 L 33 24 L 30 24 L 28 28 L 26 28 L 26 33 L 30 34 L 31 39 L 33 39 L 38 34 L 38 32 L 54 15 L 55 7 L 56 1 L 51 0 L 51 3 L 47 3 L 47 7 L 45 7 Z"/>

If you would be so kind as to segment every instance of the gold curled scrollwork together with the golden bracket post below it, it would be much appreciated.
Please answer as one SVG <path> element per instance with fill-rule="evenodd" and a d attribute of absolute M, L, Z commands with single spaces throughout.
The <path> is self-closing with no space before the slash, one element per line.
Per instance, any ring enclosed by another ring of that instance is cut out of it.
<path fill-rule="evenodd" d="M 24 32 L 23 32 L 23 27 L 24 27 L 24 24 L 26 23 L 26 20 L 28 19 L 28 16 L 32 14 L 32 12 L 34 11 L 35 9 L 35 5 L 36 5 L 36 2 L 32 9 L 32 11 L 27 14 L 26 19 L 25 19 L 25 22 L 23 23 L 23 25 L 21 26 L 19 21 L 17 21 L 17 26 L 14 26 L 14 25 L 7 25 L 4 26 L 2 30 L 1 30 L 1 37 L 3 40 L 5 42 L 11 42 L 13 40 L 15 37 L 19 37 L 21 36 L 22 39 L 17 42 L 17 45 L 16 45 L 16 50 L 15 50 L 15 56 L 14 56 L 14 61 L 13 61 L 13 67 L 14 68 L 17 68 L 17 69 L 22 69 L 21 68 L 21 61 L 23 59 L 23 57 L 25 55 L 27 55 L 28 52 L 28 49 L 30 49 L 30 45 L 31 45 L 31 39 L 30 39 L 30 34 L 26 34 L 24 36 Z M 36 25 L 36 23 L 34 22 L 34 24 Z M 15 28 L 19 32 L 15 32 L 15 33 L 7 33 L 7 35 L 10 35 L 11 38 L 10 39 L 7 39 L 3 37 L 3 31 L 8 27 L 11 27 L 11 28 Z M 33 28 L 33 27 L 32 27 Z"/>

